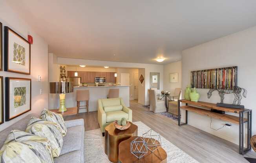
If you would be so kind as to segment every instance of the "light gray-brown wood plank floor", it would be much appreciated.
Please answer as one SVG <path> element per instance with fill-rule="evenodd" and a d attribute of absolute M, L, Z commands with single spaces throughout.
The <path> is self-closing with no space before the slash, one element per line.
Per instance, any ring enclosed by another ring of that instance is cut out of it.
<path fill-rule="evenodd" d="M 238 145 L 234 143 L 189 125 L 179 127 L 177 121 L 150 112 L 134 100 L 130 101 L 130 109 L 133 121 L 142 121 L 200 163 L 248 163 L 238 154 Z M 77 118 L 84 119 L 86 131 L 99 129 L 97 111 L 68 116 L 65 120 Z M 248 152 L 245 157 L 256 158 L 256 153 Z"/>

